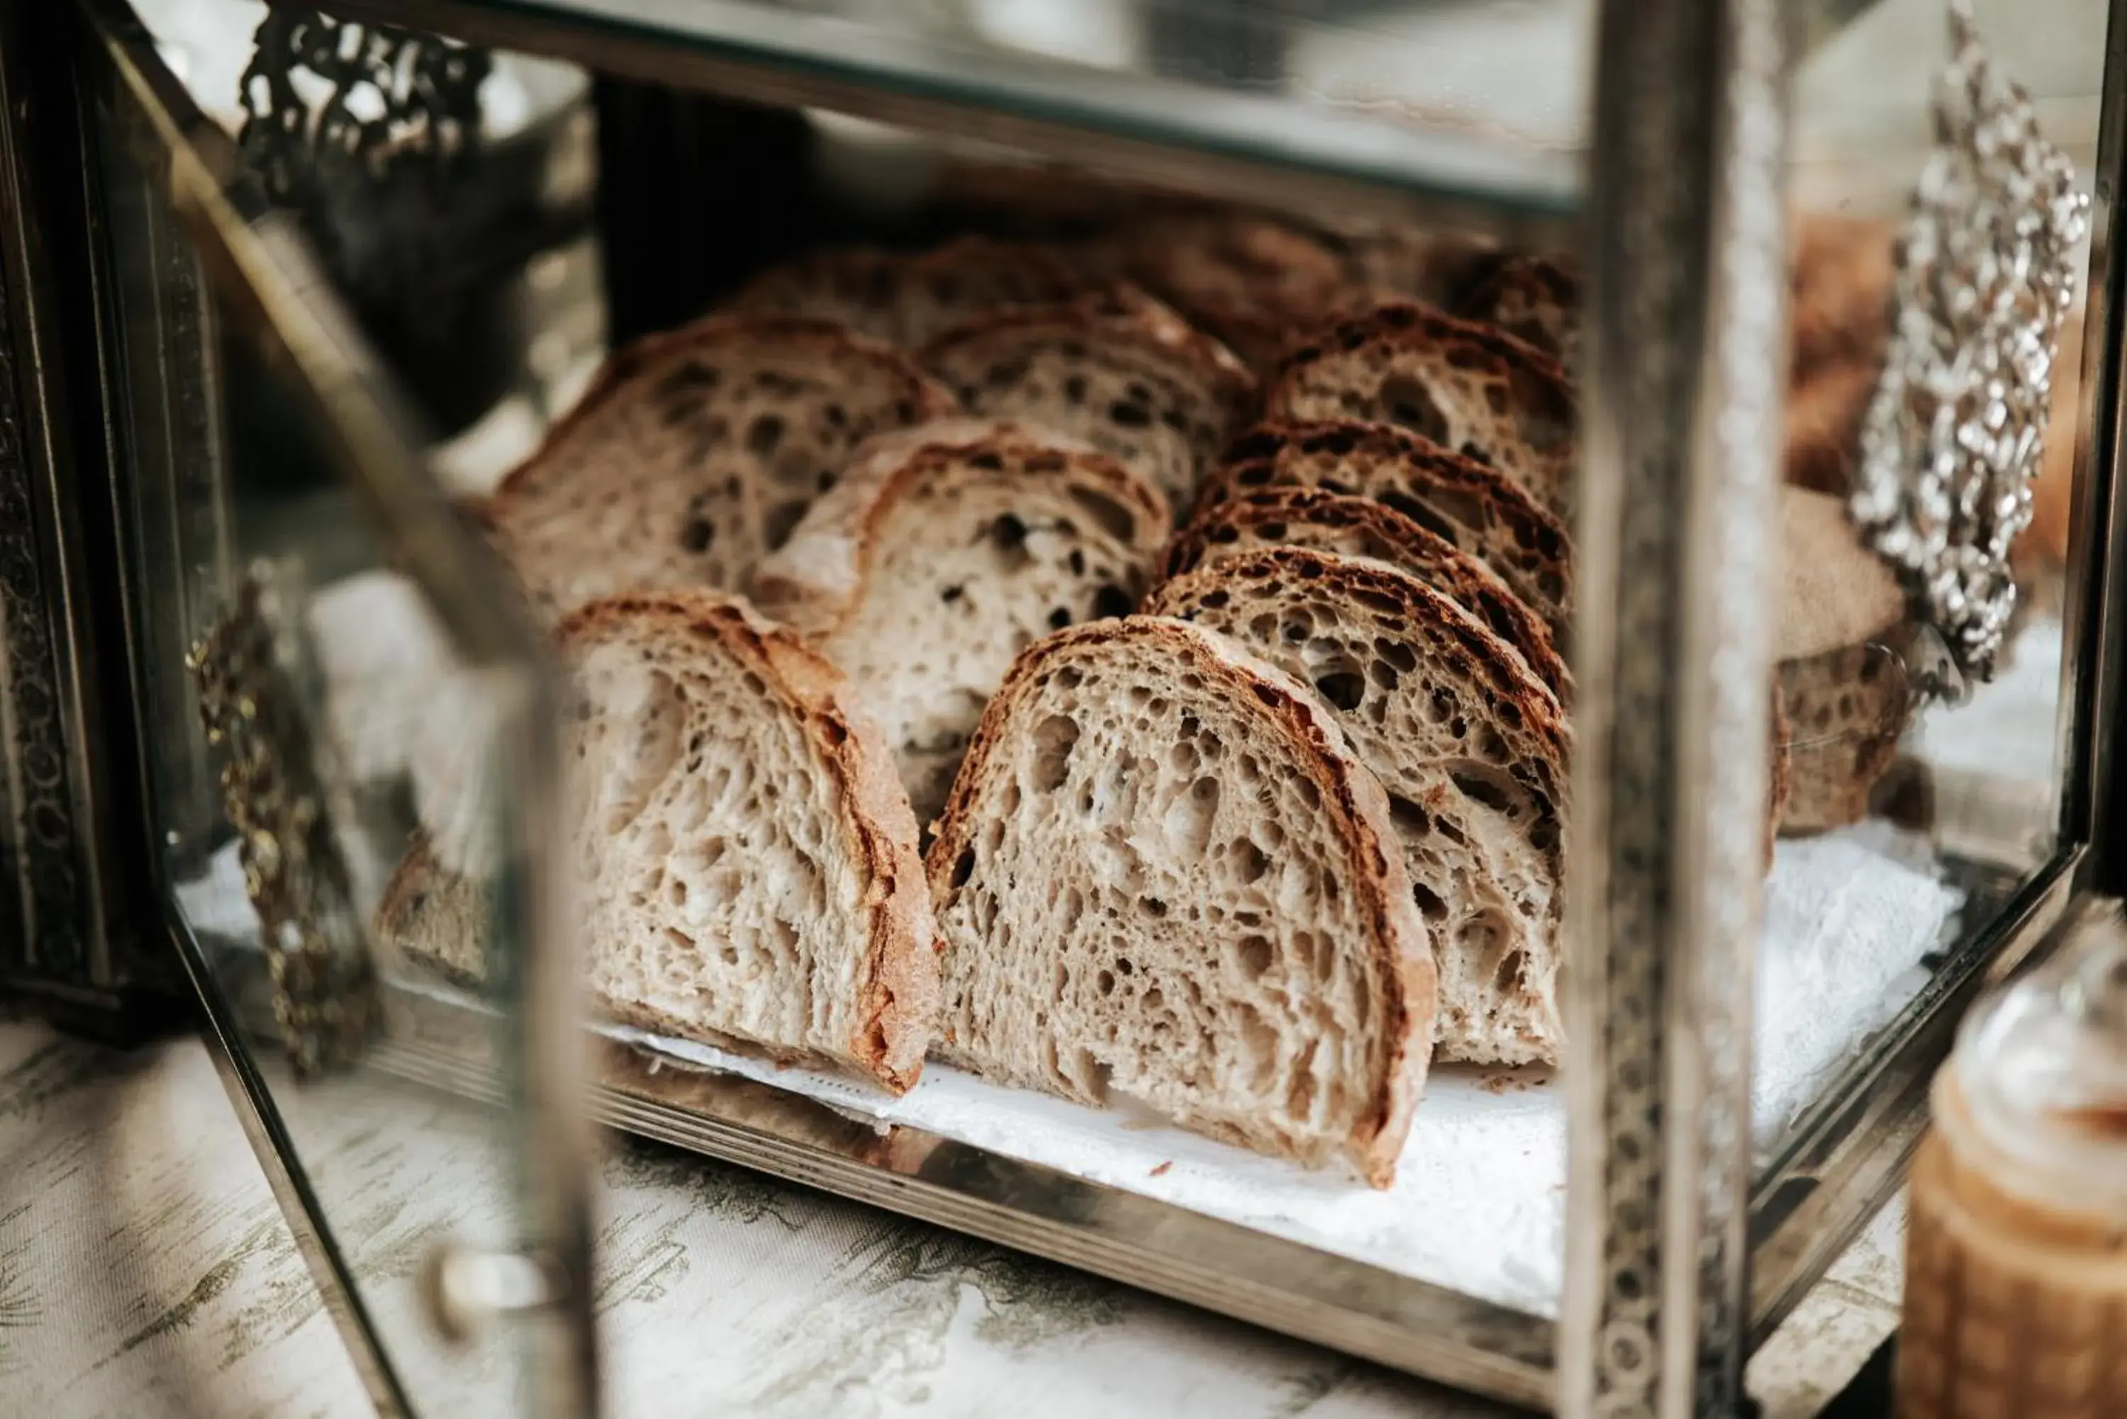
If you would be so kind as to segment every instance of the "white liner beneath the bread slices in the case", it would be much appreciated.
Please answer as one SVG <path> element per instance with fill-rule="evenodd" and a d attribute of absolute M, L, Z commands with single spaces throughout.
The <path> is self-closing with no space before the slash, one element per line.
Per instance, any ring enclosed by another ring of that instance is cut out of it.
<path fill-rule="evenodd" d="M 1916 742 L 1946 759 L 2046 764 L 2057 685 L 2059 623 L 2033 623 L 2008 672 L 1972 706 L 1933 715 Z M 1965 742 L 1967 723 L 1982 747 Z M 2021 742 L 2033 736 L 2040 742 Z M 200 930 L 255 934 L 234 849 L 204 881 L 181 887 L 179 900 Z M 1959 906 L 1961 894 L 1940 879 L 1929 842 L 1887 823 L 1778 845 L 1757 983 L 1753 1140 L 1761 1155 L 1912 1000 L 1927 979 L 1919 962 L 1942 942 Z M 447 987 L 415 987 L 451 996 Z M 1151 1117 L 1000 1089 L 936 1064 L 893 1100 L 849 1079 L 689 1040 L 602 1032 L 674 1068 L 744 1074 L 881 1125 L 912 1125 L 1506 1306 L 1557 1313 L 1565 1091 L 1544 1070 L 1438 1068 L 1395 1187 L 1372 1191 Z"/>

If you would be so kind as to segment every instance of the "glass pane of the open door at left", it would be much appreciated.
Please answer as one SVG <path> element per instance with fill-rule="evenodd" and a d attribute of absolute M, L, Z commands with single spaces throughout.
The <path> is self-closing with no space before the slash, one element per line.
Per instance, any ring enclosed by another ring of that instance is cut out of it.
<path fill-rule="evenodd" d="M 447 1249 L 542 1238 L 510 1072 L 534 672 L 459 657 L 347 472 L 332 419 L 362 396 L 334 389 L 328 408 L 228 268 L 208 279 L 200 251 L 221 238 L 174 217 L 138 89 L 91 72 L 168 908 L 381 1349 L 379 1383 L 408 1413 L 519 1413 L 521 1332 L 447 1342 L 425 1298 Z M 485 885 L 457 877 L 472 870 Z M 428 894 L 449 894 L 464 938 L 442 959 L 389 951 L 391 915 Z M 436 1013 L 442 974 L 479 983 L 474 1008 Z M 481 1087 L 436 1089 L 438 1053 Z"/>

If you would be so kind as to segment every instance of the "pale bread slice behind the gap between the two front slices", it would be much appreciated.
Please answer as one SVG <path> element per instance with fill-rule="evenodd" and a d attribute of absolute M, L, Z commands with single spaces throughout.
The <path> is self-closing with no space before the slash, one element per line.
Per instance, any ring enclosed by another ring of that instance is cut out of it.
<path fill-rule="evenodd" d="M 1159 489 L 1089 445 L 949 419 L 859 451 L 755 602 L 849 674 L 927 823 L 1012 657 L 1136 608 L 1170 523 Z"/>

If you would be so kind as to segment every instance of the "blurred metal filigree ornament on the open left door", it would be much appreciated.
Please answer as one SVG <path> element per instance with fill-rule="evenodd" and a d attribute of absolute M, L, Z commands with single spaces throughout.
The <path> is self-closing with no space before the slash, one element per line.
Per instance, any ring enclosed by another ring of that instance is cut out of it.
<path fill-rule="evenodd" d="M 334 832 L 334 796 L 298 694 L 283 579 L 257 564 L 185 657 L 221 749 L 221 800 L 274 985 L 274 1023 L 302 1076 L 351 1062 L 379 1019 L 368 938 Z"/>

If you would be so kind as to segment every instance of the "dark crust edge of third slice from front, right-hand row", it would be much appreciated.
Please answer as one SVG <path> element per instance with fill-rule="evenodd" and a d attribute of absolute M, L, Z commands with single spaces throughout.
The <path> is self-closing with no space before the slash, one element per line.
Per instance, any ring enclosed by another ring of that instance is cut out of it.
<path fill-rule="evenodd" d="M 1272 521 L 1357 528 L 1400 549 L 1410 562 L 1438 566 L 1442 579 L 1451 583 L 1444 589 L 1466 611 L 1476 615 L 1487 630 L 1519 651 L 1529 670 L 1536 672 L 1536 679 L 1544 683 L 1544 689 L 1557 696 L 1561 704 L 1572 702 L 1572 672 L 1559 660 L 1559 651 L 1551 642 L 1551 630 L 1542 617 L 1529 611 L 1489 566 L 1457 549 L 1444 536 L 1421 528 L 1404 513 L 1372 498 L 1351 498 L 1297 485 L 1244 491 L 1204 511 L 1195 521 L 1176 532 L 1161 555 L 1159 574 L 1161 579 L 1174 579 L 1227 555 L 1217 545 L 1221 528 L 1261 528 Z"/>

